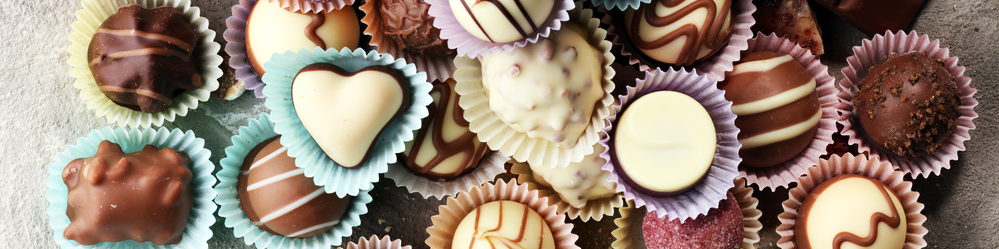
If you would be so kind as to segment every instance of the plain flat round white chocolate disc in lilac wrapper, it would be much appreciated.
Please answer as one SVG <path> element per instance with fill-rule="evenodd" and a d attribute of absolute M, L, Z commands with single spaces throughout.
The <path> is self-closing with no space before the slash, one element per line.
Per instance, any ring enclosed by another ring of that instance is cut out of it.
<path fill-rule="evenodd" d="M 682 194 L 704 178 L 714 160 L 711 116 L 686 95 L 660 91 L 639 97 L 616 123 L 610 138 L 614 170 L 640 193 Z"/>

